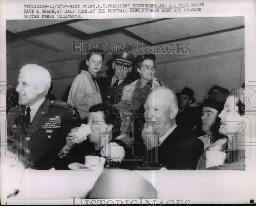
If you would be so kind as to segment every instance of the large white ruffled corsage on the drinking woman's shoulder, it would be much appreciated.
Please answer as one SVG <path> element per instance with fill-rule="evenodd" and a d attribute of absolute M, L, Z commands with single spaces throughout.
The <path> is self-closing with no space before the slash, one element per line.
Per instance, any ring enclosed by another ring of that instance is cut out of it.
<path fill-rule="evenodd" d="M 122 162 L 125 156 L 125 150 L 124 147 L 116 142 L 109 142 L 102 147 L 100 155 L 106 158 L 106 167 L 109 167 L 111 162 Z"/>

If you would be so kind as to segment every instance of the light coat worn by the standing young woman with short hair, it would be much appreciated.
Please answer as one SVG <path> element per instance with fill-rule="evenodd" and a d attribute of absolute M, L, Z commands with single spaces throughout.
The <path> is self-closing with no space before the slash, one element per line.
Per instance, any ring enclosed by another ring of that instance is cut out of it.
<path fill-rule="evenodd" d="M 86 120 L 89 116 L 91 106 L 102 102 L 98 85 L 97 88 L 98 92 L 91 75 L 84 70 L 72 83 L 67 102 L 77 108 L 82 120 Z"/>

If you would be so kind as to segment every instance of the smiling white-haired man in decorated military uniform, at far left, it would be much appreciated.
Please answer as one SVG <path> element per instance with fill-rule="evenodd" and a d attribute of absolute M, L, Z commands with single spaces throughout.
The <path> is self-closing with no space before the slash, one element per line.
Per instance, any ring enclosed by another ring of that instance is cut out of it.
<path fill-rule="evenodd" d="M 47 97 L 49 72 L 36 64 L 19 73 L 18 105 L 7 115 L 7 142 L 34 169 L 51 169 L 70 130 L 81 124 L 76 107 Z"/>

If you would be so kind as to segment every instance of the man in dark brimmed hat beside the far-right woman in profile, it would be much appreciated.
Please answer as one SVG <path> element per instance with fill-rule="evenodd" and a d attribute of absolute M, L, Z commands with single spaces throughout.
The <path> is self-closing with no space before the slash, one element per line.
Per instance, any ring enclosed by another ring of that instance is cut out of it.
<path fill-rule="evenodd" d="M 219 134 L 218 123 L 220 121 L 218 115 L 223 109 L 227 96 L 226 93 L 212 91 L 203 103 L 198 103 L 202 106 L 202 131 L 205 132 L 203 136 L 198 138 L 204 143 L 205 149 L 217 139 L 223 138 L 223 136 L 217 135 Z"/>

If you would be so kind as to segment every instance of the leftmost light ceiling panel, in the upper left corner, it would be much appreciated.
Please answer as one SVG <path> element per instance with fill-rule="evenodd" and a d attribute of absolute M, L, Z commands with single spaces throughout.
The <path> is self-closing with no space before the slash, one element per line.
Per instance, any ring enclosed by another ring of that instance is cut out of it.
<path fill-rule="evenodd" d="M 58 24 L 64 21 L 70 21 L 70 19 L 63 20 L 7 20 L 6 30 L 18 33 L 21 31 L 27 31 L 30 29 L 36 29 L 52 24 Z"/>

